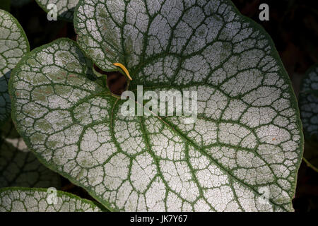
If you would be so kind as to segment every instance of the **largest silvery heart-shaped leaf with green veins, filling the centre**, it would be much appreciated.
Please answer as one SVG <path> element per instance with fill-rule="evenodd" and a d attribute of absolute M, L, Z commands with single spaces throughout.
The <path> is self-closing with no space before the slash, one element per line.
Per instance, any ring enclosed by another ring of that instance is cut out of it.
<path fill-rule="evenodd" d="M 293 210 L 300 117 L 262 28 L 229 1 L 84 0 L 74 21 L 95 64 L 126 66 L 129 90 L 196 90 L 198 119 L 124 117 L 124 100 L 58 40 L 10 84 L 18 131 L 45 165 L 111 210 Z"/>

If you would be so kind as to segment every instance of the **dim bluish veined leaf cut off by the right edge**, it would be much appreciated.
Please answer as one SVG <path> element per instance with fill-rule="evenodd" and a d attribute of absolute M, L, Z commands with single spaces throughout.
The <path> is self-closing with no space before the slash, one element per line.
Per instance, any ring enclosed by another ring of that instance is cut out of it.
<path fill-rule="evenodd" d="M 306 72 L 299 96 L 300 114 L 305 135 L 318 134 L 318 64 Z"/>

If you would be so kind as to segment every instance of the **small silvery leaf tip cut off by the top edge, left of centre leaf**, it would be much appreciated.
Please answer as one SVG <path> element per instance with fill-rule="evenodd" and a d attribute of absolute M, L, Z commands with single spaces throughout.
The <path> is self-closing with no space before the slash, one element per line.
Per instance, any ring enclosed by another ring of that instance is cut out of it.
<path fill-rule="evenodd" d="M 49 4 L 57 6 L 57 16 L 61 19 L 73 22 L 74 8 L 79 0 L 35 0 L 44 11 L 49 12 L 53 8 L 48 8 Z"/>

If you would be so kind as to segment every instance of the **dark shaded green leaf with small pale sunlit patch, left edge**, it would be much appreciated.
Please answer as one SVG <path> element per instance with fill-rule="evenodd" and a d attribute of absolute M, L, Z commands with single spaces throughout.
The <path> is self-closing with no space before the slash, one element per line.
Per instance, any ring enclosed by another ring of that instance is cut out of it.
<path fill-rule="evenodd" d="M 0 138 L 0 187 L 6 186 L 61 186 L 59 174 L 42 165 L 28 150 L 11 120 L 1 128 Z"/>

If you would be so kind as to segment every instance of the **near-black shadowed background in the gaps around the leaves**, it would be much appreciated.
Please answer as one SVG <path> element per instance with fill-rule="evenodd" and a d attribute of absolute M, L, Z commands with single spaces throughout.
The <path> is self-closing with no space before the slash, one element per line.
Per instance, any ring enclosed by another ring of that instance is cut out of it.
<path fill-rule="evenodd" d="M 1 0 L 0 0 L 1 1 Z M 232 0 L 239 11 L 261 24 L 271 35 L 281 56 L 285 69 L 298 96 L 300 81 L 305 71 L 318 63 L 318 7 L 310 0 Z M 269 5 L 269 21 L 259 20 L 259 5 Z M 11 13 L 23 26 L 31 49 L 47 44 L 59 37 L 76 39 L 73 24 L 64 21 L 49 21 L 47 13 L 30 0 L 25 6 L 11 6 Z M 305 142 L 305 156 L 318 159 L 317 143 Z M 91 198 L 86 191 L 62 179 L 62 190 L 83 198 Z M 298 173 L 298 185 L 293 200 L 296 212 L 318 210 L 318 172 L 304 161 Z"/>

